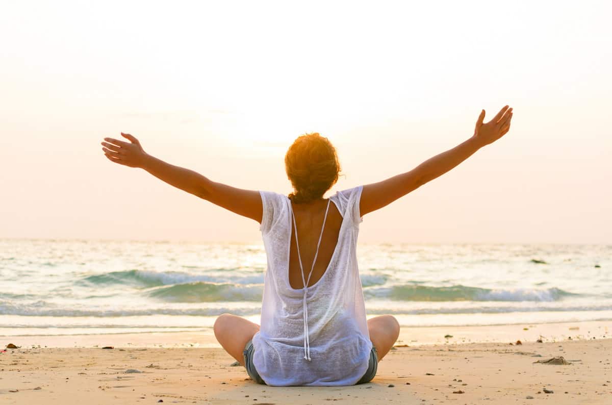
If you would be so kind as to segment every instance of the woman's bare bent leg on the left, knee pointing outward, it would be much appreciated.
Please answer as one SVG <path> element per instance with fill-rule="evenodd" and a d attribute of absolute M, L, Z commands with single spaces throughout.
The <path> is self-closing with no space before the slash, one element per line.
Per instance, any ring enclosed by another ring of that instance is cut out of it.
<path fill-rule="evenodd" d="M 259 331 L 259 325 L 240 316 L 223 314 L 217 318 L 212 329 L 223 349 L 244 366 L 242 351 L 247 342 Z"/>

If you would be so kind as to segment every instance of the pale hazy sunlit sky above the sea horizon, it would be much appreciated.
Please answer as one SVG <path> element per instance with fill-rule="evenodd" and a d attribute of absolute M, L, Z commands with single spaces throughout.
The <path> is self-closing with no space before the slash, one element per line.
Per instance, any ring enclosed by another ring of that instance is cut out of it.
<path fill-rule="evenodd" d="M 512 127 L 364 217 L 364 243 L 612 243 L 612 6 L 584 2 L 0 0 L 0 237 L 261 243 L 259 226 L 108 162 L 147 153 L 289 193 L 319 132 L 337 190 Z"/>

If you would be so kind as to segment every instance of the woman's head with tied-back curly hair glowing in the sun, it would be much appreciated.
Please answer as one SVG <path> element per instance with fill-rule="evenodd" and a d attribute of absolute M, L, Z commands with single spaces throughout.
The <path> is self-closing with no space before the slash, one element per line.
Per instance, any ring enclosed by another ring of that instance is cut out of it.
<path fill-rule="evenodd" d="M 308 203 L 322 198 L 338 180 L 340 162 L 329 139 L 316 132 L 299 136 L 285 155 L 287 177 L 294 192 L 294 203 Z"/>

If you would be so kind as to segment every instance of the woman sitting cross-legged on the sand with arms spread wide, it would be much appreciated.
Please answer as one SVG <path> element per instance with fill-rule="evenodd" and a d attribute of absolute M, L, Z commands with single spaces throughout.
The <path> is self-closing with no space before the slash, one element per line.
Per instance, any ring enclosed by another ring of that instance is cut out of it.
<path fill-rule="evenodd" d="M 400 326 L 390 315 L 365 317 L 356 242 L 362 217 L 446 173 L 510 129 L 504 106 L 487 124 L 482 110 L 474 135 L 416 168 L 378 183 L 323 195 L 340 165 L 327 138 L 300 136 L 285 156 L 294 192 L 242 190 L 147 155 L 138 139 L 104 138 L 106 157 L 258 221 L 267 254 L 261 327 L 231 314 L 214 333 L 249 376 L 269 385 L 353 385 L 371 381 Z M 333 204 L 331 204 L 333 203 Z"/>

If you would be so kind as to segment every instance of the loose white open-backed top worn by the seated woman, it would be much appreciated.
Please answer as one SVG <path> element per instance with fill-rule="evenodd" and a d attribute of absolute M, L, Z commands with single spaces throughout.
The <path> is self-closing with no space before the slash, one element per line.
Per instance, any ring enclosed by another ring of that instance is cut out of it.
<path fill-rule="evenodd" d="M 329 198 L 343 218 L 338 242 L 321 279 L 300 289 L 289 284 L 291 201 L 259 192 L 267 271 L 253 364 L 268 385 L 353 385 L 368 368 L 372 343 L 356 255 L 361 191 Z"/>

